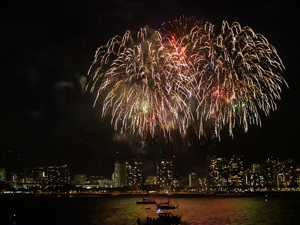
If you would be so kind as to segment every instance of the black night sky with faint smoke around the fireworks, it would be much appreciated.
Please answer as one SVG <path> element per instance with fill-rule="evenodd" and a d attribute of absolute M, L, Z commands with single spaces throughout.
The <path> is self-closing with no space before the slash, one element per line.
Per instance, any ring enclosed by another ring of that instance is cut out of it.
<path fill-rule="evenodd" d="M 1 6 L 0 167 L 12 172 L 34 166 L 67 164 L 72 173 L 110 176 L 113 163 L 137 155 L 145 174 L 155 174 L 156 160 L 173 158 L 181 173 L 204 173 L 205 156 L 243 155 L 244 167 L 271 156 L 300 161 L 298 144 L 298 7 L 286 1 L 52 1 Z M 214 24 L 239 22 L 264 35 L 286 70 L 277 110 L 261 114 L 262 127 L 221 142 L 207 140 L 177 149 L 164 142 L 141 149 L 138 137 L 114 131 L 101 119 L 95 93 L 85 92 L 95 51 L 115 35 L 140 28 L 159 29 L 179 16 L 196 16 Z M 118 153 L 117 153 L 118 152 Z"/>

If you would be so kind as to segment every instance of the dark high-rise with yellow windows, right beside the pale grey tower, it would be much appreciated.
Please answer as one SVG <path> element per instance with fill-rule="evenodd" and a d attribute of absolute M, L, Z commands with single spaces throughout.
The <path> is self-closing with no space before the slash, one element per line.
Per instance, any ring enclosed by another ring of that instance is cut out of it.
<path fill-rule="evenodd" d="M 138 159 L 126 161 L 126 185 L 142 184 L 142 163 Z"/>

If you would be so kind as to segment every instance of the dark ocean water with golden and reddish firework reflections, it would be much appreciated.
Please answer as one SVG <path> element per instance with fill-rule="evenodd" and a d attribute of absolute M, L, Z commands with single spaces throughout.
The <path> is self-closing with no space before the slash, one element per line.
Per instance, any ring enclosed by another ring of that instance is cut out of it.
<path fill-rule="evenodd" d="M 158 203 L 163 195 L 145 196 Z M 141 195 L 0 195 L 0 224 L 141 224 L 158 218 L 155 205 L 137 205 Z M 256 196 L 170 196 L 182 224 L 300 224 L 300 193 Z M 149 208 L 150 209 L 146 209 Z"/>

